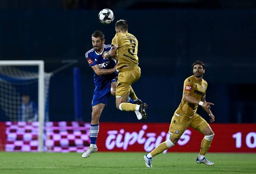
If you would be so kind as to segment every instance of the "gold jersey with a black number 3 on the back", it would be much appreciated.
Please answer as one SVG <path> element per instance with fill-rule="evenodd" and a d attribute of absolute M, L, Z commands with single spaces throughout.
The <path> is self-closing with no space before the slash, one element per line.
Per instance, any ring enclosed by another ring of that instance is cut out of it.
<path fill-rule="evenodd" d="M 138 66 L 138 41 L 133 34 L 116 33 L 111 44 L 117 47 L 118 63 L 116 69 L 121 69 L 122 66 Z"/>

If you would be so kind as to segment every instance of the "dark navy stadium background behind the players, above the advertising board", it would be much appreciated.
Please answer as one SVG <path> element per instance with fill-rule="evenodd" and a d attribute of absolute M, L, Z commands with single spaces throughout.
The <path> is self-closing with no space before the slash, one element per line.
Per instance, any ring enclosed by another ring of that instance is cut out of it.
<path fill-rule="evenodd" d="M 114 11 L 110 25 L 98 21 L 103 8 Z M 215 103 L 216 123 L 256 122 L 254 0 L 1 0 L 0 59 L 44 60 L 46 72 L 62 66 L 62 60 L 78 60 L 82 116 L 89 122 L 93 71 L 84 55 L 92 48 L 94 30 L 102 30 L 111 43 L 119 19 L 128 21 L 139 41 L 142 76 L 133 88 L 149 105 L 146 122 L 170 122 L 195 60 L 206 65 L 206 100 Z M 51 78 L 50 121 L 74 120 L 72 68 Z M 199 113 L 208 119 L 201 108 Z M 111 97 L 100 121 L 137 119 L 118 111 Z"/>

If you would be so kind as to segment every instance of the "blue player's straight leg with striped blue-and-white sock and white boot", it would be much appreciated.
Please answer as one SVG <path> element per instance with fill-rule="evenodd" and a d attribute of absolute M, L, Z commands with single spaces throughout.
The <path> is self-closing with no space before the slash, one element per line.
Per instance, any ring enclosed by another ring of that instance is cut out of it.
<path fill-rule="evenodd" d="M 103 104 L 103 103 L 99 103 L 99 104 L 93 106 L 93 112 L 91 114 L 91 116 L 92 116 L 91 128 L 90 128 L 91 144 L 90 144 L 90 147 L 88 147 L 88 149 L 83 153 L 83 155 L 82 155 L 83 158 L 87 158 L 91 155 L 91 153 L 95 153 L 98 151 L 96 142 L 97 142 L 97 137 L 98 137 L 99 128 L 100 128 L 99 119 L 100 119 L 100 115 L 101 115 L 101 112 L 104 109 L 104 107 L 105 107 L 105 104 Z"/>

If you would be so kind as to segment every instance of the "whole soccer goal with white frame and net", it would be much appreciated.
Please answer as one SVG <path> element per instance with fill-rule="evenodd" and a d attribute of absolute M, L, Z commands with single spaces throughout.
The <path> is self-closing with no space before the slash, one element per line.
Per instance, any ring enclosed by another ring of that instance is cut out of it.
<path fill-rule="evenodd" d="M 49 121 L 50 78 L 42 60 L 0 61 L 0 121 L 7 131 L 7 143 L 0 142 L 0 148 L 43 150 L 44 121 Z"/>

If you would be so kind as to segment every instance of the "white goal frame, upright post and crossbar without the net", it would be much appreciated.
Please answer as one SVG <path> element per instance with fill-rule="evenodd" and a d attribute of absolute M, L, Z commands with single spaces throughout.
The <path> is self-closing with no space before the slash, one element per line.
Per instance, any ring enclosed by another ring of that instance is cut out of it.
<path fill-rule="evenodd" d="M 1 66 L 38 66 L 38 151 L 44 148 L 44 114 L 45 114 L 45 96 L 44 96 L 44 61 L 43 60 L 0 60 Z"/>

